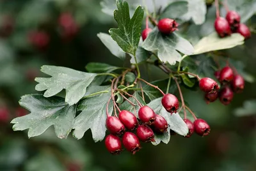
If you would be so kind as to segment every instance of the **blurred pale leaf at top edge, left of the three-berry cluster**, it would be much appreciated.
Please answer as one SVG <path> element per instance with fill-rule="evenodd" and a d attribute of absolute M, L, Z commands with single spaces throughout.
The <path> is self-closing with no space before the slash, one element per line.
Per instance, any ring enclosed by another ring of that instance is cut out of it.
<path fill-rule="evenodd" d="M 180 19 L 184 21 L 192 19 L 196 25 L 200 25 L 205 22 L 205 14 L 206 5 L 204 0 L 188 0 L 188 13 L 182 15 Z"/>

